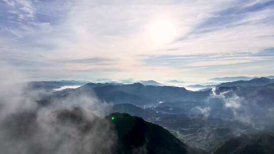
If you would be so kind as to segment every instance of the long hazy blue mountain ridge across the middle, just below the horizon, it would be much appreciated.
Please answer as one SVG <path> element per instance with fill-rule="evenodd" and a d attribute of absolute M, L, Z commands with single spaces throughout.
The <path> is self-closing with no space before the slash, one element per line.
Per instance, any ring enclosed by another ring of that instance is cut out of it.
<path fill-rule="evenodd" d="M 114 104 L 130 103 L 134 105 L 148 105 L 160 101 L 203 100 L 210 91 L 192 92 L 185 88 L 173 86 L 144 86 L 141 83 L 129 85 L 86 84 L 77 89 L 55 92 L 49 99 L 62 99 L 68 94 L 95 94 L 102 100 Z"/>

